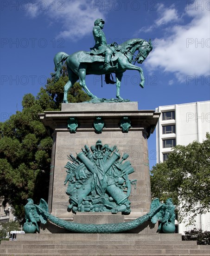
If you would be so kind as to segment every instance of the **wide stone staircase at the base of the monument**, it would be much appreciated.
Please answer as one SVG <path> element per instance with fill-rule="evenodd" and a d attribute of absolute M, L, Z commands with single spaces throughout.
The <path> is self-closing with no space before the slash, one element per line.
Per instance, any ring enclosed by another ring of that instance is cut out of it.
<path fill-rule="evenodd" d="M 210 245 L 181 241 L 181 234 L 17 234 L 17 241 L 1 242 L 4 255 L 206 256 Z"/>

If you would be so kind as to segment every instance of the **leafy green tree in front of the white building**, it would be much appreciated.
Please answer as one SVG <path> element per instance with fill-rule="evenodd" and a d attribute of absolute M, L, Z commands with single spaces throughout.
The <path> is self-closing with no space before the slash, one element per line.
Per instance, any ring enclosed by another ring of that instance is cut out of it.
<path fill-rule="evenodd" d="M 172 197 L 179 206 L 179 222 L 210 210 L 210 134 L 202 143 L 173 148 L 168 159 L 151 170 L 152 196 Z"/>

